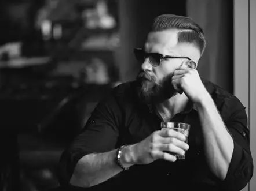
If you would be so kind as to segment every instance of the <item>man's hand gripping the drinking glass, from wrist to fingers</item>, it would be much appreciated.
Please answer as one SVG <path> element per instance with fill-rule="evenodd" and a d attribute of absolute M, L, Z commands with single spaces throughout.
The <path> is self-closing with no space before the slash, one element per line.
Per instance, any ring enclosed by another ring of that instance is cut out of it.
<path fill-rule="evenodd" d="M 186 137 L 171 129 L 158 130 L 131 147 L 135 164 L 149 164 L 157 159 L 174 162 L 175 154 L 184 155 L 189 146 Z M 167 153 L 168 152 L 168 153 Z"/>

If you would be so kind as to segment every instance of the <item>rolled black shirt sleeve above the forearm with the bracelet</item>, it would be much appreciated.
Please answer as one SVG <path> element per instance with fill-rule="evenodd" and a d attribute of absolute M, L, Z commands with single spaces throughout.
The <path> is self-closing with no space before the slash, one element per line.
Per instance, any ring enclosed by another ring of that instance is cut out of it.
<path fill-rule="evenodd" d="M 100 102 L 88 119 L 82 132 L 61 155 L 58 178 L 61 185 L 70 182 L 76 163 L 90 153 L 103 153 L 115 149 L 118 141 L 120 111 L 114 96 Z"/>

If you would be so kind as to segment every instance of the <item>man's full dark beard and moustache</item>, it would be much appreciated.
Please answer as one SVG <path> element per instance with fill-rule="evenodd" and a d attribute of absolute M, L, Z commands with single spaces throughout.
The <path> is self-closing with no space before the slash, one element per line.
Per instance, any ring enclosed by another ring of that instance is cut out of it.
<path fill-rule="evenodd" d="M 171 77 L 173 74 L 166 76 L 159 83 L 156 83 L 156 77 L 151 76 L 149 73 L 141 72 L 138 74 L 138 96 L 145 103 L 162 103 L 177 94 Z"/>

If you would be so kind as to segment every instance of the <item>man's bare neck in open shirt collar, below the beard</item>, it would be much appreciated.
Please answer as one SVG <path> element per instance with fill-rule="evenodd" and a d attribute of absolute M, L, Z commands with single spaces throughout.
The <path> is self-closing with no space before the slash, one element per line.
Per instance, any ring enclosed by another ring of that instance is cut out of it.
<path fill-rule="evenodd" d="M 188 100 L 188 97 L 184 93 L 177 94 L 172 98 L 165 100 L 163 103 L 157 104 L 156 108 L 162 118 L 169 121 L 175 114 L 185 110 Z"/>

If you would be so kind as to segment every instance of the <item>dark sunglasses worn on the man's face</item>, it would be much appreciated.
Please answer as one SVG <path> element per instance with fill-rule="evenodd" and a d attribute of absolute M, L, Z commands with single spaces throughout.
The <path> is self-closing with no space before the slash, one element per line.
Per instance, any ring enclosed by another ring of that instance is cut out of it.
<path fill-rule="evenodd" d="M 163 55 L 158 53 L 145 53 L 145 51 L 142 50 L 142 48 L 134 48 L 134 55 L 137 61 L 141 63 L 143 63 L 146 58 L 149 58 L 149 63 L 154 67 L 159 66 L 162 59 L 185 58 L 185 59 L 188 59 L 189 61 L 191 60 L 189 57 L 173 57 L 173 56 Z"/>

